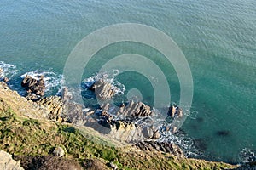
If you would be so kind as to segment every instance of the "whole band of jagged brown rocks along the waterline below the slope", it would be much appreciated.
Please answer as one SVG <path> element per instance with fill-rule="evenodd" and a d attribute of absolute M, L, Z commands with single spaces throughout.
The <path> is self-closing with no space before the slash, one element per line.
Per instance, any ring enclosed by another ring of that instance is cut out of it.
<path fill-rule="evenodd" d="M 182 150 L 174 149 L 173 144 L 157 142 L 161 134 L 159 127 L 152 125 L 150 116 L 154 113 L 150 106 L 131 100 L 113 110 L 108 101 L 113 99 L 116 88 L 103 79 L 97 80 L 89 88 L 96 93 L 96 98 L 102 101 L 101 107 L 96 110 L 84 110 L 83 105 L 73 103 L 73 96 L 67 88 L 62 88 L 61 97 L 44 97 L 43 76 L 39 79 L 26 76 L 21 85 L 26 88 L 28 94 L 26 98 L 34 99 L 36 101 L 34 105 L 38 105 L 50 121 L 92 127 L 100 133 L 108 134 L 113 139 L 137 144 L 137 147 L 142 150 L 158 150 L 183 156 Z M 37 98 L 31 98 L 31 96 L 37 96 Z M 168 115 L 182 116 L 182 110 L 171 107 Z"/>

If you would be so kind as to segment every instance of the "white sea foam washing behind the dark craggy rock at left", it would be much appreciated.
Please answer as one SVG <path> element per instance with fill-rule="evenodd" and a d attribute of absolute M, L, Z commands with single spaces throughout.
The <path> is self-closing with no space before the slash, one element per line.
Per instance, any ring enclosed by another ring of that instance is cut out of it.
<path fill-rule="evenodd" d="M 25 74 L 21 75 L 21 78 L 26 77 L 26 75 L 39 79 L 40 76 L 44 76 L 44 82 L 45 82 L 45 91 L 49 91 L 52 88 L 61 88 L 61 85 L 64 82 L 63 75 L 61 74 L 56 74 L 55 72 L 52 71 L 30 71 L 26 72 Z"/>

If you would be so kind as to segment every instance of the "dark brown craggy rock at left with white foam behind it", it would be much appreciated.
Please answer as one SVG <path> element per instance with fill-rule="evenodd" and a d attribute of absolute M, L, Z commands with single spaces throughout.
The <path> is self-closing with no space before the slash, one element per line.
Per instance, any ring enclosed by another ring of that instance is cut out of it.
<path fill-rule="evenodd" d="M 40 76 L 38 80 L 26 75 L 21 82 L 21 86 L 26 88 L 28 99 L 39 99 L 40 97 L 44 96 L 45 82 L 43 75 Z"/>

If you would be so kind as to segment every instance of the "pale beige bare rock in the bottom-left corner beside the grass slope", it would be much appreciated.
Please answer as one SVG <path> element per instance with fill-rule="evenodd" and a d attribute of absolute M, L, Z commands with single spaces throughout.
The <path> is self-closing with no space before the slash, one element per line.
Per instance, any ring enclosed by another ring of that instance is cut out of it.
<path fill-rule="evenodd" d="M 6 170 L 24 170 L 20 167 L 20 161 L 13 160 L 9 153 L 0 150 L 0 167 Z"/>

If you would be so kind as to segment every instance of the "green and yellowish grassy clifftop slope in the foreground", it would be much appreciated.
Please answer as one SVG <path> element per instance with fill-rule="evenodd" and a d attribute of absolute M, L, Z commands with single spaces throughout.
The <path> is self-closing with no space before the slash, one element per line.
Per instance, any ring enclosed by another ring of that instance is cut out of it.
<path fill-rule="evenodd" d="M 93 140 L 91 140 L 93 138 Z M 0 149 L 15 156 L 48 156 L 61 146 L 65 157 L 83 164 L 98 159 L 113 161 L 120 169 L 212 169 L 232 167 L 189 159 L 177 159 L 159 152 L 142 152 L 131 147 L 115 148 L 87 131 L 61 122 L 39 121 L 15 114 L 10 108 L 0 114 Z"/>

